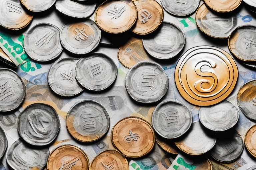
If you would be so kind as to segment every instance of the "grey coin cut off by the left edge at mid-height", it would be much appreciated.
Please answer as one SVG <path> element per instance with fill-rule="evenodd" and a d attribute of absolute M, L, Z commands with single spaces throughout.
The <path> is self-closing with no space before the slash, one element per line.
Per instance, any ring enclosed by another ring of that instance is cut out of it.
<path fill-rule="evenodd" d="M 18 108 L 25 95 L 26 87 L 21 77 L 10 69 L 0 69 L 0 112 Z"/>

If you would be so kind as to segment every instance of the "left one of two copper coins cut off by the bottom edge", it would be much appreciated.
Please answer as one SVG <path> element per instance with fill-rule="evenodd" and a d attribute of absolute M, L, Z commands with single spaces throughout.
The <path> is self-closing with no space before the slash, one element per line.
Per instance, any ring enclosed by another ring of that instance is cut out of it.
<path fill-rule="evenodd" d="M 47 161 L 47 170 L 89 169 L 86 153 L 75 145 L 62 145 L 51 152 Z"/>

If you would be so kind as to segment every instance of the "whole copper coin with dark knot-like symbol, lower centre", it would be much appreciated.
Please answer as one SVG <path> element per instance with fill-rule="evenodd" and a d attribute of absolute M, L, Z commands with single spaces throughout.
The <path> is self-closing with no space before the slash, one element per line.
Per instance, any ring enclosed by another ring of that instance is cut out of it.
<path fill-rule="evenodd" d="M 137 158 L 149 153 L 155 144 L 151 125 L 138 117 L 127 117 L 117 122 L 111 131 L 113 145 L 126 157 Z"/>

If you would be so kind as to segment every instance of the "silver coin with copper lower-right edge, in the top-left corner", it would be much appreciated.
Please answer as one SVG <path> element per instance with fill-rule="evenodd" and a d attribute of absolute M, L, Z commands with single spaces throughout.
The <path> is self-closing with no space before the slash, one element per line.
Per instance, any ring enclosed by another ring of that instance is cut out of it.
<path fill-rule="evenodd" d="M 20 0 L 2 0 L 0 11 L 0 25 L 11 30 L 26 27 L 33 18 L 24 11 Z"/>

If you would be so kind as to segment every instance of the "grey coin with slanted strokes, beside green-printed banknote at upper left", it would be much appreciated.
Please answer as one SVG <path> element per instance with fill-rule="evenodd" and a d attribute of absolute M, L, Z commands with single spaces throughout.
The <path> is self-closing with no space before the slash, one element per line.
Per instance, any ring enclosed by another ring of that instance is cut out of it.
<path fill-rule="evenodd" d="M 24 49 L 36 61 L 55 59 L 62 52 L 60 30 L 48 23 L 35 25 L 24 36 Z"/>

